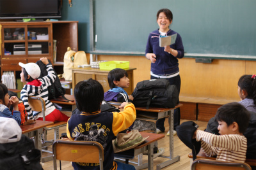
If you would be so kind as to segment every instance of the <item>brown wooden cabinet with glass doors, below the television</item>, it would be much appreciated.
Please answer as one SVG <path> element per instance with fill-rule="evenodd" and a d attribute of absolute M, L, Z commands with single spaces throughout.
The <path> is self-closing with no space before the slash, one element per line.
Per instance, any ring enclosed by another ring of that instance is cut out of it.
<path fill-rule="evenodd" d="M 63 73 L 63 58 L 67 47 L 78 50 L 77 23 L 0 22 L 1 74 L 3 71 L 20 71 L 19 62 L 36 62 L 41 57 L 47 57 L 53 63 L 53 39 L 57 40 L 56 61 L 59 63 L 56 64 L 56 72 Z"/>

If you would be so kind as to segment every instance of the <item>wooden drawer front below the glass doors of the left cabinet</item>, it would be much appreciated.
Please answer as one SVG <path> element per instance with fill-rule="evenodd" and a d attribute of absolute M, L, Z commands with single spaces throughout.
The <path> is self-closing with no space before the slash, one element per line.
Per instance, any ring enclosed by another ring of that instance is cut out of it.
<path fill-rule="evenodd" d="M 18 60 L 2 59 L 1 62 L 2 62 L 1 67 L 2 67 L 3 71 L 15 71 L 15 70 L 21 71 L 19 62 L 26 64 L 27 60 L 26 59 L 18 59 Z"/>

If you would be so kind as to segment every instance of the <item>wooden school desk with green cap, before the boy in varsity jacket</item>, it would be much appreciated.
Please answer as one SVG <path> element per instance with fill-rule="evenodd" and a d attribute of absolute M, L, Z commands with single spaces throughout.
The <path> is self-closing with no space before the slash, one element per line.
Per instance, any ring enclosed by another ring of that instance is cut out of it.
<path fill-rule="evenodd" d="M 136 146 L 135 148 L 132 148 L 130 150 L 126 150 L 124 152 L 115 153 L 114 157 L 123 158 L 123 159 L 133 159 L 137 155 L 140 155 L 141 153 L 144 153 L 145 151 L 148 151 L 148 162 L 145 164 L 138 164 L 138 166 L 134 166 L 137 170 L 139 169 L 145 169 L 148 167 L 148 170 L 153 170 L 153 149 L 154 149 L 154 142 L 158 141 L 159 139 L 162 139 L 165 137 L 164 134 L 154 134 L 154 133 L 147 133 L 147 132 L 140 132 L 141 136 L 143 138 L 147 138 L 141 145 Z M 139 162 L 140 163 L 140 162 Z"/>

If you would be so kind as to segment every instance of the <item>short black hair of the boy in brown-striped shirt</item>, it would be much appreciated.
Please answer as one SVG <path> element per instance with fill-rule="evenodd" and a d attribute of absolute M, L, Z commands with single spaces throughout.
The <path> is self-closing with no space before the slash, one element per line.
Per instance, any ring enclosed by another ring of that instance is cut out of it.
<path fill-rule="evenodd" d="M 215 118 L 218 121 L 226 122 L 228 126 L 236 122 L 239 132 L 244 133 L 249 124 L 250 112 L 242 104 L 232 102 L 218 108 Z"/>

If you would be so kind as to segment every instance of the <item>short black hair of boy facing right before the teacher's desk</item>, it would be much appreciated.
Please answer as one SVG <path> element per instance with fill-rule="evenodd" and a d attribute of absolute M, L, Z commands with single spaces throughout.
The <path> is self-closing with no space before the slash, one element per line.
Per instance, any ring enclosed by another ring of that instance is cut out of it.
<path fill-rule="evenodd" d="M 124 69 L 112 69 L 108 73 L 108 84 L 110 89 L 113 89 L 116 85 L 113 81 L 120 81 L 124 76 L 128 77 L 128 73 Z"/>

